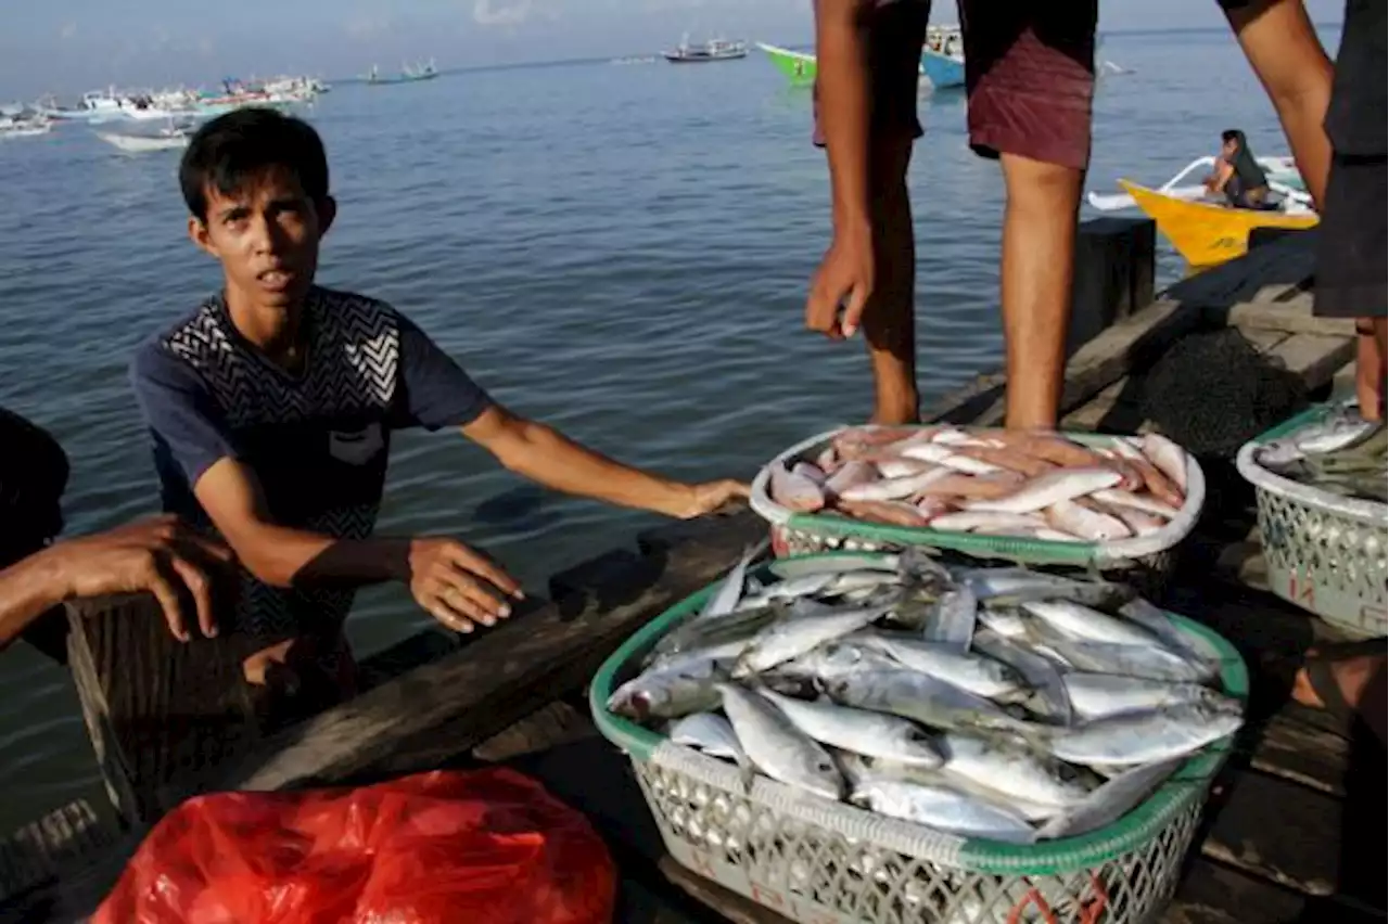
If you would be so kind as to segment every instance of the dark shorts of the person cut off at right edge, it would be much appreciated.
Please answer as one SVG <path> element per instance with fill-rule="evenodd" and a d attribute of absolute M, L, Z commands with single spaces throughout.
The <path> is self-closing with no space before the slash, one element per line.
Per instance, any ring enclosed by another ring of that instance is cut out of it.
<path fill-rule="evenodd" d="M 1389 155 L 1331 161 L 1317 240 L 1315 311 L 1389 318 Z"/>

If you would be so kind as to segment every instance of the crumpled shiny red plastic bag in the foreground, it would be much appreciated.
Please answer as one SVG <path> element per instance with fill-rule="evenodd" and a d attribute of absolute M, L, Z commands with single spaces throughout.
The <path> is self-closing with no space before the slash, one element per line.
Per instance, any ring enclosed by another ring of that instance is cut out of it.
<path fill-rule="evenodd" d="M 150 831 L 92 924 L 608 924 L 588 820 L 513 770 L 226 792 Z"/>

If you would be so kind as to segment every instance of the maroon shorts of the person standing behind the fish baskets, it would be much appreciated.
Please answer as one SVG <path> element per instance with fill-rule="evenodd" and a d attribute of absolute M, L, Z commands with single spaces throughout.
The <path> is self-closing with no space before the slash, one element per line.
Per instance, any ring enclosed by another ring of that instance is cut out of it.
<path fill-rule="evenodd" d="M 958 0 L 970 146 L 1085 169 L 1090 160 L 1097 0 Z M 917 87 L 928 0 L 870 14 L 872 132 L 920 137 Z M 815 105 L 815 144 L 824 144 Z"/>

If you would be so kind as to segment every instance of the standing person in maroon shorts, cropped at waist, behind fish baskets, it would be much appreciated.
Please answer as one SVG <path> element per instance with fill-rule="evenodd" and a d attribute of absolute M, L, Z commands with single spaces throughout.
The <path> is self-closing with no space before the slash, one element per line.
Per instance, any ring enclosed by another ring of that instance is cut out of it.
<path fill-rule="evenodd" d="M 835 236 L 806 326 L 872 359 L 875 423 L 918 419 L 915 241 L 907 165 L 931 0 L 814 0 L 815 143 Z M 1054 427 L 1071 318 L 1076 212 L 1090 158 L 1097 0 L 958 0 L 970 144 L 999 158 L 1007 425 Z M 843 312 L 840 315 L 840 311 Z"/>

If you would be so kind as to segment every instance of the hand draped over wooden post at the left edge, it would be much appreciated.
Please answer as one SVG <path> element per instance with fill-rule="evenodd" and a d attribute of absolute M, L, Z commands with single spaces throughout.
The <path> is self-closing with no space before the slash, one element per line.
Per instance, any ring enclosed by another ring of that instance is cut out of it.
<path fill-rule="evenodd" d="M 149 591 L 158 599 L 174 637 L 188 641 L 182 591 L 193 597 L 203 635 L 217 635 L 207 572 L 231 562 L 232 551 L 174 516 L 60 542 L 42 555 L 57 569 L 63 599 Z"/>

